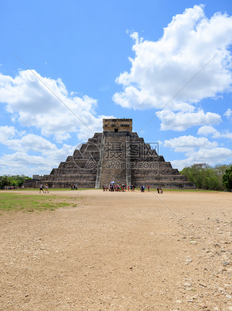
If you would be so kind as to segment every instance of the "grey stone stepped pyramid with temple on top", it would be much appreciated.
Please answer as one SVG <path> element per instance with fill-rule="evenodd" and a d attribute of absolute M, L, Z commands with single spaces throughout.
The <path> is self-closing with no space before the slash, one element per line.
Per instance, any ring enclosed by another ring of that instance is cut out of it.
<path fill-rule="evenodd" d="M 50 175 L 37 181 L 50 188 L 101 188 L 103 184 L 150 185 L 150 188 L 195 188 L 158 156 L 149 143 L 132 132 L 132 119 L 103 119 L 103 132 L 95 133 L 73 156 L 61 162 Z"/>

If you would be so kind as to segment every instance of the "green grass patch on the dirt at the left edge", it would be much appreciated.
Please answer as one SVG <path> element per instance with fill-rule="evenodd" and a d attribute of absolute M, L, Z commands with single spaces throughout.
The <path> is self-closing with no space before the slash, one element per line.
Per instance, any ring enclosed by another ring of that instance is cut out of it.
<path fill-rule="evenodd" d="M 67 200 L 67 198 L 65 198 Z M 47 196 L 38 197 L 37 195 L 17 195 L 14 193 L 2 193 L 0 196 L 1 211 L 55 211 L 57 208 L 65 207 L 68 204 L 63 198 Z"/>

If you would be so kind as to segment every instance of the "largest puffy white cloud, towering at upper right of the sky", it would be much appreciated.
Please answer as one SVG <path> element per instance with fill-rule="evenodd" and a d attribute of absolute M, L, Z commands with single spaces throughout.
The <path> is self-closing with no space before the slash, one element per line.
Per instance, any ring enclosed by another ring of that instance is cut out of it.
<path fill-rule="evenodd" d="M 201 99 L 231 91 L 231 33 L 231 17 L 216 13 L 207 19 L 203 6 L 194 6 L 173 17 L 156 42 L 132 33 L 135 57 L 130 59 L 130 72 L 125 71 L 116 79 L 123 91 L 115 93 L 113 100 L 127 108 L 160 109 L 217 52 L 168 108 L 190 112 Z"/>

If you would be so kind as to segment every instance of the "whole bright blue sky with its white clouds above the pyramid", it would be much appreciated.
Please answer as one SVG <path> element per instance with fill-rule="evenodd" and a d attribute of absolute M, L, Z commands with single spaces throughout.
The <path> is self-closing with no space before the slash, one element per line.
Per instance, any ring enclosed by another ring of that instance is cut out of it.
<path fill-rule="evenodd" d="M 231 163 L 231 16 L 230 0 L 2 1 L 0 175 L 49 174 L 103 117 L 132 118 L 173 168 Z"/>

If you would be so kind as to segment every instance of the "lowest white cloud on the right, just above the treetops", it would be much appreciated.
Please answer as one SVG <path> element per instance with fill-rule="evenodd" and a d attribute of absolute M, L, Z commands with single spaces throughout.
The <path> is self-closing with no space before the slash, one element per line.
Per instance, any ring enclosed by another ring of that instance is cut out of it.
<path fill-rule="evenodd" d="M 217 163 L 225 163 L 231 161 L 232 150 L 227 148 L 201 148 L 198 151 L 186 153 L 188 158 L 184 160 L 174 160 L 171 161 L 173 168 L 182 170 L 185 166 L 190 166 L 193 163 L 207 163 L 209 165 L 215 165 Z"/>

